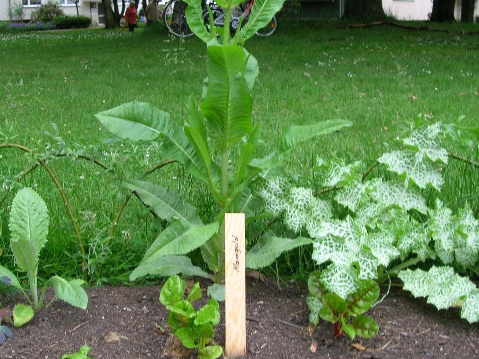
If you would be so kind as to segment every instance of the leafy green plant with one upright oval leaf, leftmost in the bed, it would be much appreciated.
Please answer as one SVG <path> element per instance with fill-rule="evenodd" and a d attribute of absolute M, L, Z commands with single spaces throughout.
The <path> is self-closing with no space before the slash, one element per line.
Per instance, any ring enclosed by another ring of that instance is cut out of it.
<path fill-rule="evenodd" d="M 40 298 L 38 298 L 39 253 L 47 242 L 48 212 L 43 199 L 31 188 L 23 188 L 15 195 L 11 204 L 8 227 L 11 233 L 10 247 L 15 263 L 20 272 L 26 272 L 30 289 L 30 296 L 28 296 L 15 274 L 0 266 L 0 278 L 7 278 L 8 283 L 19 289 L 30 303 L 30 305 L 19 303 L 13 308 L 15 326 L 21 326 L 33 318 L 34 311 L 42 307 L 46 290 L 50 287 L 53 287 L 55 291 L 52 302 L 55 298 L 59 298 L 73 306 L 86 309 L 88 296 L 81 287 L 84 283 L 83 280 L 68 281 L 59 276 L 53 276 L 46 281 Z"/>

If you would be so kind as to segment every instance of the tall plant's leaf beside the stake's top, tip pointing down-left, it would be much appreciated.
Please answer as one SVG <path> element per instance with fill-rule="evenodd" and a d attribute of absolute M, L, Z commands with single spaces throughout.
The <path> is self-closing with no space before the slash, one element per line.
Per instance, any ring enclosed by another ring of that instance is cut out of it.
<path fill-rule="evenodd" d="M 196 225 L 173 221 L 148 248 L 141 264 L 157 260 L 162 256 L 178 256 L 190 253 L 201 247 L 219 229 L 217 222 L 207 225 Z"/>

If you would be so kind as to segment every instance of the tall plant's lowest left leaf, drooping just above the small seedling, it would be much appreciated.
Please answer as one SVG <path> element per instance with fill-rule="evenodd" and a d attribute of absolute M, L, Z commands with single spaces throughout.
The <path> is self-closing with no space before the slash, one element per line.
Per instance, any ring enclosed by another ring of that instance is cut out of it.
<path fill-rule="evenodd" d="M 194 266 L 191 259 L 185 256 L 166 256 L 159 257 L 154 261 L 140 264 L 130 274 L 130 280 L 146 275 L 157 275 L 160 277 L 170 277 L 174 274 L 182 273 L 185 276 L 198 276 L 211 279 L 212 276 L 203 269 Z"/>

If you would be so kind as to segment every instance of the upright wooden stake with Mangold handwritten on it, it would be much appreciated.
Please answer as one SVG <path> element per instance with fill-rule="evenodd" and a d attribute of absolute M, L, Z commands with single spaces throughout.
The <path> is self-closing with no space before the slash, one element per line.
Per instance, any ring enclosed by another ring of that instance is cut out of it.
<path fill-rule="evenodd" d="M 226 357 L 246 355 L 244 213 L 225 214 Z"/>

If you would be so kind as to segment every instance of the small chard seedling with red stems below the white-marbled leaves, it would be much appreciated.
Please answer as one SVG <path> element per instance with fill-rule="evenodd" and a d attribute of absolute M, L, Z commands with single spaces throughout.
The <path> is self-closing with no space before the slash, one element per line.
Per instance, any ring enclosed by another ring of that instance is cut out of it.
<path fill-rule="evenodd" d="M 351 339 L 375 337 L 379 331 L 376 321 L 366 315 L 379 296 L 379 286 L 374 280 L 362 280 L 359 289 L 344 300 L 334 293 L 324 293 L 319 284 L 319 271 L 310 274 L 308 280 L 309 320 L 317 325 L 318 316 L 334 325 L 334 336 L 346 333 Z M 352 320 L 351 320 L 352 319 Z M 349 321 L 351 320 L 351 323 Z"/>

